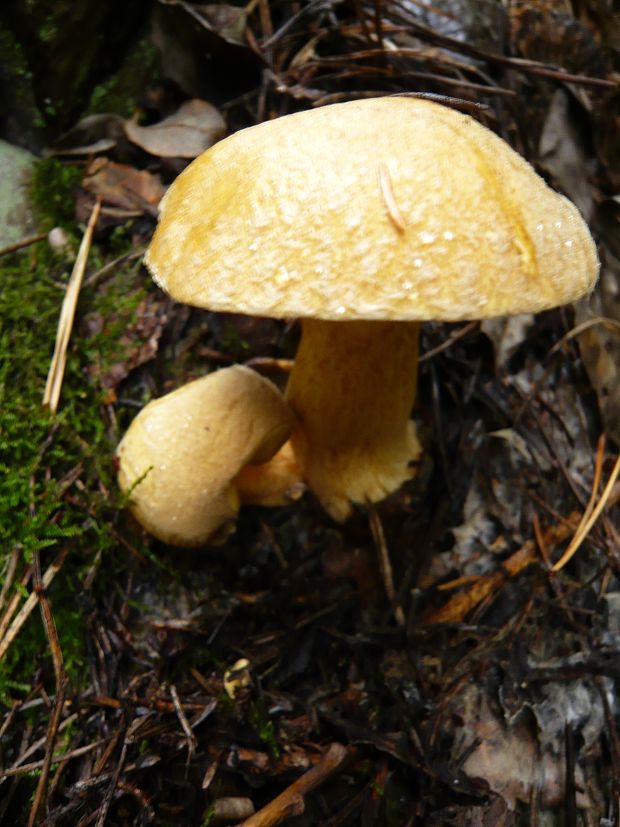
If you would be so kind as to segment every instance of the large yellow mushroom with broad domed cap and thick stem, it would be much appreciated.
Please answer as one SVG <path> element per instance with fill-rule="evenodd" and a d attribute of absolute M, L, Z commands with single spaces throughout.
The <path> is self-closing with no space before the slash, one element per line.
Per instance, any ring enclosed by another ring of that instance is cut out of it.
<path fill-rule="evenodd" d="M 533 313 L 598 272 L 577 208 L 507 143 L 406 97 L 216 144 L 165 195 L 146 261 L 177 301 L 301 318 L 291 441 L 336 519 L 411 476 L 421 321 Z"/>

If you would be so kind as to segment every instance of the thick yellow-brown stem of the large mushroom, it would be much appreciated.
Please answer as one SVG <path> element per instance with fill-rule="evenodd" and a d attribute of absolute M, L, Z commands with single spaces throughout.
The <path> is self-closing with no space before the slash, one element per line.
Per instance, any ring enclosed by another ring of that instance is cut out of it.
<path fill-rule="evenodd" d="M 414 473 L 417 322 L 304 319 L 286 398 L 304 479 L 336 520 Z"/>

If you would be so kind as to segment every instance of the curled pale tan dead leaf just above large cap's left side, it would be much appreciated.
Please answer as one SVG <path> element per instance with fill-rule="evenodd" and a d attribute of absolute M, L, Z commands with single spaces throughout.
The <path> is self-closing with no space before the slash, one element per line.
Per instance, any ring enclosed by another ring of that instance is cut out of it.
<path fill-rule="evenodd" d="M 127 137 L 160 158 L 196 158 L 224 137 L 226 122 L 207 101 L 194 98 L 151 126 L 125 121 Z"/>

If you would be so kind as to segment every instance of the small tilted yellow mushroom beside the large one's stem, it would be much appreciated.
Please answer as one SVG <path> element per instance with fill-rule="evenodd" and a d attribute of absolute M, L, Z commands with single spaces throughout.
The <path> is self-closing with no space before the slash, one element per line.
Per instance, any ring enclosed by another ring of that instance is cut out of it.
<path fill-rule="evenodd" d="M 290 449 L 279 452 L 293 425 L 272 382 L 241 365 L 224 368 L 140 411 L 118 447 L 120 488 L 163 542 L 221 541 L 241 503 L 279 505 L 301 493 Z"/>

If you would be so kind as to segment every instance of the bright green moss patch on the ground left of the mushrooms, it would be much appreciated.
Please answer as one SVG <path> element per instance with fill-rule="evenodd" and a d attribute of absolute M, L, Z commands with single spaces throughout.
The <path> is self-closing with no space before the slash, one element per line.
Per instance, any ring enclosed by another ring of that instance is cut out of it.
<path fill-rule="evenodd" d="M 50 191 L 47 204 L 58 211 L 48 217 L 58 223 L 66 188 L 74 179 L 56 162 L 51 169 L 52 179 L 60 178 L 62 186 Z M 49 180 L 45 186 L 51 187 Z M 101 260 L 101 251 L 94 248 L 93 266 Z M 42 396 L 63 299 L 59 282 L 66 280 L 70 266 L 45 243 L 0 260 L 0 574 L 14 550 L 20 560 L 16 582 L 35 551 L 45 571 L 61 550 L 70 550 L 49 597 L 65 665 L 77 683 L 85 672 L 85 629 L 76 596 L 95 558 L 117 548 L 119 498 L 112 462 L 117 434 L 104 416 L 102 400 L 109 391 L 100 377 L 125 358 L 120 334 L 134 321 L 145 288 L 134 263 L 120 268 L 105 289 L 83 290 L 60 407 L 52 416 Z M 84 324 L 88 316 L 100 320 L 99 332 Z M 102 577 L 106 571 L 104 567 Z M 18 585 L 9 598 L 15 591 L 20 591 Z M 34 611 L 0 662 L 0 702 L 8 704 L 30 688 L 41 659 L 49 665 L 40 613 Z"/>

